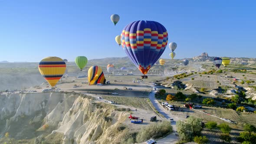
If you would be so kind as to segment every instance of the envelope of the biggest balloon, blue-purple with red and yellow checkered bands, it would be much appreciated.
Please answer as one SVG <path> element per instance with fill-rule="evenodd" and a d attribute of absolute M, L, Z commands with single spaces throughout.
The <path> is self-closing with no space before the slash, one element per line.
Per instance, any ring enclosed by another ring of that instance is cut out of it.
<path fill-rule="evenodd" d="M 121 33 L 125 53 L 144 75 L 160 58 L 167 42 L 167 30 L 155 21 L 132 22 Z"/>

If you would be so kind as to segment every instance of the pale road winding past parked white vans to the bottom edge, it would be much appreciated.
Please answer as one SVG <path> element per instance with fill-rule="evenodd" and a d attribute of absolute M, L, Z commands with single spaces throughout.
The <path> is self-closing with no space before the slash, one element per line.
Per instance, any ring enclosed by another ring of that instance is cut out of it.
<path fill-rule="evenodd" d="M 174 131 L 176 131 L 176 121 L 181 120 L 181 118 L 178 118 L 171 114 L 170 111 L 167 111 L 163 106 L 158 102 L 158 100 L 154 97 L 156 91 L 152 91 L 152 93 L 149 94 L 149 99 L 152 102 L 153 106 L 162 114 L 165 118 L 170 121 L 170 118 L 174 118 L 174 122 L 171 123 Z M 171 133 L 167 135 L 166 137 L 158 140 L 158 144 L 176 144 L 178 141 L 178 136 L 175 135 L 175 133 Z"/>

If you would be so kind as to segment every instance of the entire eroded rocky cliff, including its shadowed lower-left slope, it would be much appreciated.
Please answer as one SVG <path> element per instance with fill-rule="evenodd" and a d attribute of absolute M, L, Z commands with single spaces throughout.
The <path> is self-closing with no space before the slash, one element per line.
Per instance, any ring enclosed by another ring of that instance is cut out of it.
<path fill-rule="evenodd" d="M 0 95 L 0 137 L 8 132 L 13 141 L 33 144 L 122 143 L 125 127 L 115 131 L 126 115 L 78 93 Z"/>

